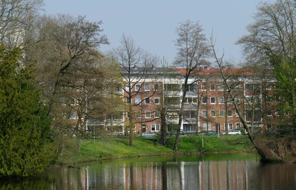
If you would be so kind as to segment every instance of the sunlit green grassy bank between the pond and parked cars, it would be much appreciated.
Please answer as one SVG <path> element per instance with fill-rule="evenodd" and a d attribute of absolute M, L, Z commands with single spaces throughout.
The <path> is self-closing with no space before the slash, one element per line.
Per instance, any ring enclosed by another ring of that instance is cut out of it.
<path fill-rule="evenodd" d="M 80 152 L 76 155 L 64 154 L 59 157 L 59 163 L 76 163 L 100 159 L 134 157 L 147 155 L 166 155 L 176 153 L 175 137 L 167 138 L 167 146 L 160 145 L 159 139 L 134 139 L 134 146 L 129 146 L 129 139 L 108 139 L 96 142 L 84 141 Z M 201 137 L 182 137 L 178 153 L 211 153 L 231 151 L 254 151 L 254 146 L 246 136 L 204 137 L 202 147 Z"/>

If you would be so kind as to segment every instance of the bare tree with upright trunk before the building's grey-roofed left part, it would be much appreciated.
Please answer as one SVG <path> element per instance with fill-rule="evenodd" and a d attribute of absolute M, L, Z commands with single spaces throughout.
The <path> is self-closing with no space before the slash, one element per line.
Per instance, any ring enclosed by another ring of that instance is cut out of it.
<path fill-rule="evenodd" d="M 133 145 L 134 137 L 134 114 L 132 98 L 140 94 L 142 87 L 145 88 L 148 72 L 152 70 L 152 65 L 156 65 L 158 58 L 152 56 L 141 47 L 136 46 L 131 36 L 122 34 L 121 46 L 114 48 L 112 55 L 121 67 L 121 74 L 124 80 L 124 96 L 128 104 L 128 130 L 130 132 L 130 145 Z M 141 84 L 136 90 L 135 86 Z M 141 100 L 141 102 L 144 100 Z M 136 104 L 137 106 L 137 104 Z"/>

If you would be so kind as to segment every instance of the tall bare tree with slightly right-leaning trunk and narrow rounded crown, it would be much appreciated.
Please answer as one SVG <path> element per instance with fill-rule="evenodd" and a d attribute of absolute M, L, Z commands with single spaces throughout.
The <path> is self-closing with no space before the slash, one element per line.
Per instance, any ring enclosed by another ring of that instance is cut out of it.
<path fill-rule="evenodd" d="M 199 66 L 208 64 L 205 58 L 209 55 L 210 48 L 202 31 L 203 29 L 198 22 L 193 23 L 190 20 L 181 23 L 176 29 L 178 38 L 175 41 L 175 46 L 178 47 L 178 52 L 175 57 L 175 65 L 186 69 L 181 110 L 179 114 L 179 126 L 176 142 L 173 148 L 176 151 L 178 151 L 180 129 L 182 127 L 185 96 L 190 85 L 188 84 L 188 79 L 194 72 L 198 72 Z"/>

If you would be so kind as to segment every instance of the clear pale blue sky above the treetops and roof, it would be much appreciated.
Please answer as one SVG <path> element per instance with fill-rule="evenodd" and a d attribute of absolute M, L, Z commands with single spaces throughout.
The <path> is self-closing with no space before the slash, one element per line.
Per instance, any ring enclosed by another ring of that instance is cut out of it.
<path fill-rule="evenodd" d="M 176 27 L 187 19 L 199 21 L 210 38 L 212 28 L 219 54 L 234 62 L 243 60 L 241 48 L 234 43 L 253 22 L 261 0 L 44 0 L 45 13 L 86 15 L 90 21 L 103 21 L 102 28 L 110 46 L 119 46 L 122 33 L 131 35 L 135 44 L 171 63 L 176 54 Z M 265 1 L 265 0 L 264 0 Z M 267 0 L 275 2 L 275 0 Z"/>

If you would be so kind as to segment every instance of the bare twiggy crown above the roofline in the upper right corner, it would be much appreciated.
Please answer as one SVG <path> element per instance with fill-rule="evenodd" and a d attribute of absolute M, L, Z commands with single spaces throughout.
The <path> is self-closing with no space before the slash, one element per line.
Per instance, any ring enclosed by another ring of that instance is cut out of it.
<path fill-rule="evenodd" d="M 270 64 L 270 58 L 291 58 L 296 52 L 296 1 L 261 2 L 257 9 L 255 21 L 247 26 L 249 34 L 237 44 L 252 62 Z"/>

